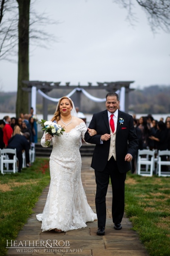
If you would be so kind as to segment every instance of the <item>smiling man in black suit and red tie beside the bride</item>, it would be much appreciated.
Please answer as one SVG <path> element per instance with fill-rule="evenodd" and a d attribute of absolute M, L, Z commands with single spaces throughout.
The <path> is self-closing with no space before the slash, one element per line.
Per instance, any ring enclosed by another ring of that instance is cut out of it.
<path fill-rule="evenodd" d="M 105 234 L 106 194 L 109 178 L 112 183 L 112 218 L 114 229 L 122 229 L 125 209 L 125 179 L 131 169 L 130 161 L 136 154 L 138 139 L 133 117 L 119 111 L 117 93 L 106 95 L 106 110 L 95 113 L 85 133 L 85 141 L 96 144 L 91 167 L 96 176 L 97 235 Z M 93 136 L 93 129 L 97 134 Z"/>

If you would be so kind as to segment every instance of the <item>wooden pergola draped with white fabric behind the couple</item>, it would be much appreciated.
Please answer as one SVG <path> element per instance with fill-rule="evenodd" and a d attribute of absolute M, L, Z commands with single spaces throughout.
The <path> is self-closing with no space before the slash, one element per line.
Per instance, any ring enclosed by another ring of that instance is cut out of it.
<path fill-rule="evenodd" d="M 73 89 L 70 93 L 65 96 L 71 97 L 74 93 L 76 94 L 76 100 L 74 97 L 74 105 L 80 107 L 81 102 L 81 94 L 83 93 L 86 97 L 91 99 L 94 102 L 105 102 L 104 99 L 100 99 L 92 96 L 89 91 L 91 89 L 95 90 L 106 90 L 108 92 L 116 92 L 119 94 L 121 107 L 120 110 L 127 112 L 129 99 L 128 93 L 131 90 L 129 86 L 134 81 L 118 81 L 118 82 L 104 82 L 97 83 L 97 85 L 92 86 L 91 83 L 88 85 L 70 85 L 70 83 L 66 83 L 65 85 L 60 85 L 60 82 L 44 82 L 44 81 L 23 81 L 23 83 L 27 84 L 27 87 L 24 87 L 23 90 L 28 91 L 29 95 L 29 108 L 34 108 L 34 113 L 36 114 L 36 96 L 37 93 L 43 97 L 43 119 L 47 120 L 48 116 L 48 100 L 53 102 L 58 102 L 59 99 L 55 99 L 48 96 L 48 92 L 53 89 L 65 89 L 70 90 Z M 87 91 L 88 90 L 88 91 Z"/>

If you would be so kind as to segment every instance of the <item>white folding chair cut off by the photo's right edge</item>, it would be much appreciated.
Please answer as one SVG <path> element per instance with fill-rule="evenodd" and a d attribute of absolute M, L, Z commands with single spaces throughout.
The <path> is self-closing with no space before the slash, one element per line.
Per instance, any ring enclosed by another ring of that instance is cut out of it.
<path fill-rule="evenodd" d="M 161 160 L 161 156 L 164 156 L 164 160 Z M 161 171 L 161 166 L 170 167 L 170 150 L 159 150 L 158 151 L 158 176 L 170 176 L 170 168 L 167 172 Z"/>

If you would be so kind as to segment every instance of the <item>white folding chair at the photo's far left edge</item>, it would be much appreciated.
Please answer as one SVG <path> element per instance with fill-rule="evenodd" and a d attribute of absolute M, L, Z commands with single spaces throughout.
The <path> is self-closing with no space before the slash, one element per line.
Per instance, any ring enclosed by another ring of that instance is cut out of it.
<path fill-rule="evenodd" d="M 8 154 L 13 154 L 13 159 L 9 159 Z M 6 157 L 5 157 L 6 156 Z M 1 173 L 4 172 L 17 172 L 17 151 L 11 148 L 0 149 L 0 162 L 1 162 Z M 13 164 L 13 169 L 9 169 L 9 163 Z M 6 165 L 6 169 L 4 169 Z"/>

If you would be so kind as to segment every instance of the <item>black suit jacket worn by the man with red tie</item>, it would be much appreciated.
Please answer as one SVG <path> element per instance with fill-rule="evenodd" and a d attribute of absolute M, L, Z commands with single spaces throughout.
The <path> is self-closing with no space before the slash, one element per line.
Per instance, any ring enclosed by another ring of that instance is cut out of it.
<path fill-rule="evenodd" d="M 124 120 L 123 124 L 119 123 L 119 118 Z M 97 134 L 90 136 L 88 131 L 85 133 L 85 141 L 96 144 L 92 157 L 91 167 L 96 171 L 102 172 L 108 162 L 110 139 L 100 144 L 100 137 L 103 134 L 110 134 L 108 120 L 108 111 L 95 113 L 89 125 L 90 129 L 95 129 Z M 133 125 L 133 117 L 122 111 L 118 111 L 118 123 L 116 128 L 116 161 L 119 172 L 125 173 L 131 169 L 130 162 L 125 161 L 126 154 L 133 157 L 136 154 L 138 139 Z"/>

